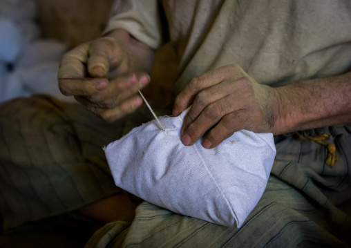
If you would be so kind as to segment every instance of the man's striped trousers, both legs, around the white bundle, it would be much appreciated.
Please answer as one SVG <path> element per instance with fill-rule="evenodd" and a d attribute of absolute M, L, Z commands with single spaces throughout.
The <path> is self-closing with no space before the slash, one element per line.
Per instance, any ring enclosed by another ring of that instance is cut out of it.
<path fill-rule="evenodd" d="M 140 124 L 106 124 L 50 97 L 0 106 L 0 211 L 5 228 L 72 211 L 120 191 L 102 147 Z M 142 118 L 141 118 L 142 119 Z M 302 137 L 328 135 L 328 147 Z M 90 247 L 350 247 L 351 126 L 275 137 L 265 193 L 240 229 L 143 202 L 133 222 L 106 224 Z"/>

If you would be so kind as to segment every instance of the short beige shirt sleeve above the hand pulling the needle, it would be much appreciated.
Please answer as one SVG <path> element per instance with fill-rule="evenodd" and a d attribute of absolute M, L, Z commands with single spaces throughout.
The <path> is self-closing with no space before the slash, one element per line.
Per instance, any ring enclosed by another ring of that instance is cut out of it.
<path fill-rule="evenodd" d="M 123 28 L 151 48 L 158 48 L 163 37 L 159 4 L 157 0 L 116 0 L 104 34 Z"/>

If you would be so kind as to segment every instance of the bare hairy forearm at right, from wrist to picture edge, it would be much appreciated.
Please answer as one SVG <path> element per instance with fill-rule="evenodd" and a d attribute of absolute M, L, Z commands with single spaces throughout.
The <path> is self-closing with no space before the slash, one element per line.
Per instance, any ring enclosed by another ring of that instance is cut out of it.
<path fill-rule="evenodd" d="M 274 135 L 351 123 L 351 73 L 276 88 Z"/>

